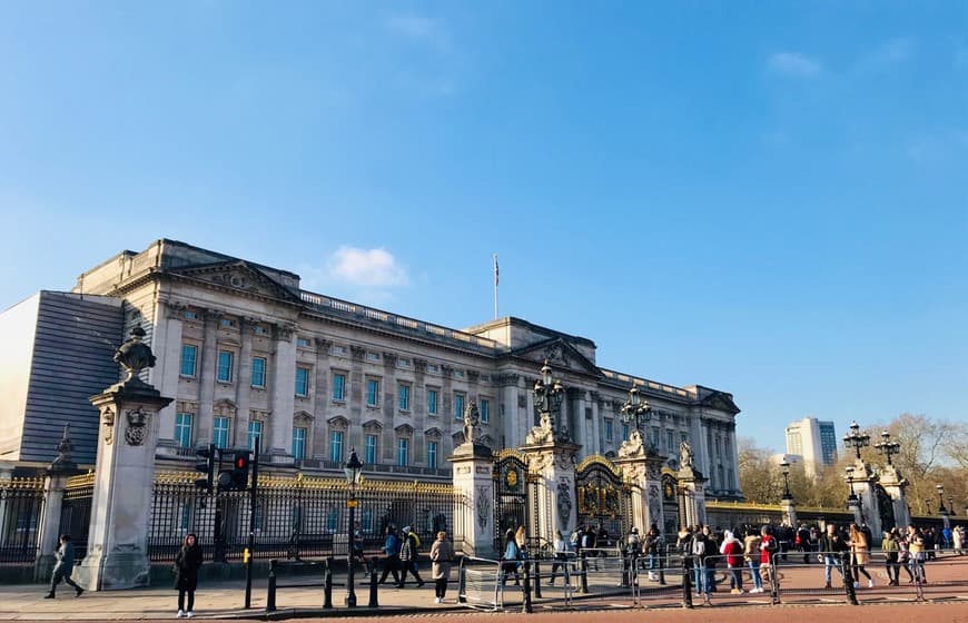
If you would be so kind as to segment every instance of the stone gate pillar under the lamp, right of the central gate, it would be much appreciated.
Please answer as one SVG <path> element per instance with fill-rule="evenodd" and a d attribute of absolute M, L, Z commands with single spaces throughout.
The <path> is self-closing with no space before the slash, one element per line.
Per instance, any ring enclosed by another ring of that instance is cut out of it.
<path fill-rule="evenodd" d="M 662 465 L 665 457 L 646 449 L 642 435 L 633 429 L 629 439 L 622 442 L 615 464 L 632 485 L 632 526 L 642 533 L 653 524 L 663 530 L 665 516 L 662 511 Z"/>

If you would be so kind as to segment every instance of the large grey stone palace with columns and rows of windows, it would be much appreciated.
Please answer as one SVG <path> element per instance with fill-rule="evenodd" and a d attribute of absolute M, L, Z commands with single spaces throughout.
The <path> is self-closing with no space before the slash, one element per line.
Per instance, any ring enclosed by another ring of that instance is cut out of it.
<path fill-rule="evenodd" d="M 635 386 L 654 413 L 648 441 L 669 466 L 689 442 L 707 494 L 742 497 L 729 393 L 600 367 L 591 339 L 520 318 L 443 327 L 168 239 L 108 258 L 69 293 L 41 290 L 0 315 L 18 336 L 2 355 L 0 471 L 48 464 L 66 425 L 77 462 L 93 463 L 98 414 L 87 397 L 118 380 L 110 353 L 135 326 L 157 356 L 144 379 L 175 398 L 158 421 L 159 466 L 187 466 L 209 443 L 251 447 L 258 437 L 269 469 L 332 472 L 353 447 L 382 477 L 445 482 L 472 402 L 480 443 L 497 451 L 525 442 L 537 423 L 531 389 L 547 362 L 566 388 L 561 421 L 580 457 L 615 456 Z"/>

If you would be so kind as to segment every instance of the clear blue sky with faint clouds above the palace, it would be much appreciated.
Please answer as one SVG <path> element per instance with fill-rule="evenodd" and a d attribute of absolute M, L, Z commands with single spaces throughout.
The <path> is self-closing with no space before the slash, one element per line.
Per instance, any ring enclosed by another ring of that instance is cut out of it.
<path fill-rule="evenodd" d="M 965 422 L 968 6 L 0 3 L 0 308 L 159 237 L 735 396 Z"/>

